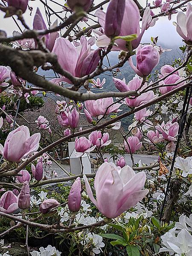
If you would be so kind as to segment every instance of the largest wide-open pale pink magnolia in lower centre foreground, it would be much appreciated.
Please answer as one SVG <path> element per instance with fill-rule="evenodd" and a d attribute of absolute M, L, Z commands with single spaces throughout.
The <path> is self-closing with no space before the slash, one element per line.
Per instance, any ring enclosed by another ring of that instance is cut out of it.
<path fill-rule="evenodd" d="M 145 180 L 145 172 L 135 174 L 129 166 L 121 169 L 114 163 L 103 163 L 95 176 L 95 199 L 87 177 L 84 175 L 90 200 L 108 218 L 118 217 L 144 198 L 148 193 L 148 189 L 142 190 Z"/>

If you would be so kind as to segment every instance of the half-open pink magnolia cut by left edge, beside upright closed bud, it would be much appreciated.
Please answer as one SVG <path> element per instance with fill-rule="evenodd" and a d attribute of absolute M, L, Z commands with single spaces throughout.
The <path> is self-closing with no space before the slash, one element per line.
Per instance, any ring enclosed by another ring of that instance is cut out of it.
<path fill-rule="evenodd" d="M 12 191 L 5 192 L 0 198 L 0 211 L 12 213 L 18 209 L 18 198 Z"/>

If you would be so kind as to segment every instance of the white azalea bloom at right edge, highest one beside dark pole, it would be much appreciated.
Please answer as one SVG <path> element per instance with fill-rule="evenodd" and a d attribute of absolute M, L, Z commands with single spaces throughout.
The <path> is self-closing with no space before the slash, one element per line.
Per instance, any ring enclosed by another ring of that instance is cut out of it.
<path fill-rule="evenodd" d="M 192 157 L 176 157 L 174 167 L 183 171 L 181 176 L 187 177 L 192 174 Z"/>

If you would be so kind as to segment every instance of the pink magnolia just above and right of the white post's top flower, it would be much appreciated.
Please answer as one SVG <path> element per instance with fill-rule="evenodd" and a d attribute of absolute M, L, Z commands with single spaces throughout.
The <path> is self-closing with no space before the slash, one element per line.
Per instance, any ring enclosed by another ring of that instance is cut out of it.
<path fill-rule="evenodd" d="M 96 145 L 98 148 L 107 146 L 111 143 L 108 132 L 102 134 L 101 131 L 92 131 L 89 135 L 89 140 L 92 142 L 93 146 Z"/>

